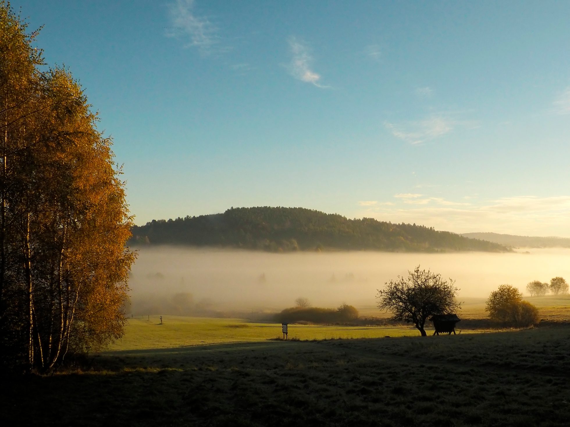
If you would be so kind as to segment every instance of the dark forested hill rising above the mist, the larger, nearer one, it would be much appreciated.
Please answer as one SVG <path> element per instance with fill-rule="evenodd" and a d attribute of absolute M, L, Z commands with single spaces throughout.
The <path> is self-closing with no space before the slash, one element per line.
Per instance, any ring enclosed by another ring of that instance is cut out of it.
<path fill-rule="evenodd" d="M 189 245 L 270 252 L 377 250 L 398 252 L 487 251 L 507 248 L 447 231 L 375 219 L 347 219 L 304 208 L 231 208 L 214 215 L 153 220 L 133 227 L 132 245 Z"/>

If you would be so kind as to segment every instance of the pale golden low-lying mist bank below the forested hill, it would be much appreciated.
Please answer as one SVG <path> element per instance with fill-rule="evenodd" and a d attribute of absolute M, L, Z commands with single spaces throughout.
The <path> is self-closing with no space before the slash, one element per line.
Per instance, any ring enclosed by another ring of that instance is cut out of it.
<path fill-rule="evenodd" d="M 532 280 L 570 278 L 570 249 L 515 253 L 264 252 L 144 247 L 129 286 L 132 312 L 203 314 L 208 310 L 282 310 L 305 297 L 313 306 L 376 304 L 386 281 L 421 268 L 453 278 L 460 298 L 488 297 L 500 284 L 526 293 Z M 164 313 L 167 314 L 167 313 Z"/>

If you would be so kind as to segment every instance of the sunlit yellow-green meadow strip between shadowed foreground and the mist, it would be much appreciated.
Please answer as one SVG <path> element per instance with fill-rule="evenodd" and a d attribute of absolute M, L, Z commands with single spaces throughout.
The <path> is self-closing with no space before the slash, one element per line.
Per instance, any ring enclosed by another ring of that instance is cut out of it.
<path fill-rule="evenodd" d="M 458 331 L 461 330 L 461 323 Z M 428 334 L 433 329 L 426 329 Z M 418 336 L 413 326 L 317 326 L 289 325 L 289 339 L 384 338 Z M 474 331 L 462 331 L 463 334 Z M 138 350 L 140 348 L 167 348 L 201 344 L 254 342 L 283 336 L 278 323 L 250 323 L 241 319 L 212 319 L 184 316 L 164 316 L 150 319 L 132 318 L 125 327 L 125 335 L 109 346 L 109 350 Z"/>

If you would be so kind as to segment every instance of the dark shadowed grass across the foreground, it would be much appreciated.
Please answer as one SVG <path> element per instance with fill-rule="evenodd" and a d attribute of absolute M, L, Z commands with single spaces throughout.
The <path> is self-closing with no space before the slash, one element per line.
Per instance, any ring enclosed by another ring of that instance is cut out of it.
<path fill-rule="evenodd" d="M 89 372 L 5 381 L 2 416 L 58 426 L 565 426 L 568 354 L 568 327 L 116 351 Z"/>

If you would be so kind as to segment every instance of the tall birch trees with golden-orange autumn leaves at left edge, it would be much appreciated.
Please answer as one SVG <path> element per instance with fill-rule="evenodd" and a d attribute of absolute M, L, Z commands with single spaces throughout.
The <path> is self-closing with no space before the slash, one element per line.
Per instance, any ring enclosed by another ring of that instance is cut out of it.
<path fill-rule="evenodd" d="M 111 141 L 70 72 L 39 70 L 34 36 L 0 2 L 0 350 L 48 371 L 121 336 L 135 254 Z"/>

